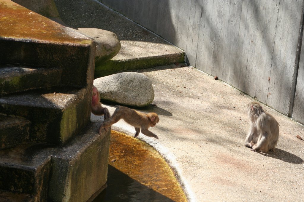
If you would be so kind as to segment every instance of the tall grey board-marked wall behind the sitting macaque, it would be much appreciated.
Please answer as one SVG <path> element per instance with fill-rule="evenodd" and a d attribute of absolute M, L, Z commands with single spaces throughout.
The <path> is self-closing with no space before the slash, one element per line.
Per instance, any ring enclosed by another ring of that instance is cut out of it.
<path fill-rule="evenodd" d="M 295 120 L 304 123 L 303 0 L 99 1 L 183 49 L 190 65 L 286 116 L 295 103 Z"/>

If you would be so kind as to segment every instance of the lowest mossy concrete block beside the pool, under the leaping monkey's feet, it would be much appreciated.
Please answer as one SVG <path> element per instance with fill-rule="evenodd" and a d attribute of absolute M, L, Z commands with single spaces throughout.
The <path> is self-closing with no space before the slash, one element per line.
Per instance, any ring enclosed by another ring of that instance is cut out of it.
<path fill-rule="evenodd" d="M 88 201 L 105 187 L 110 131 L 97 133 L 92 123 L 52 157 L 48 201 Z"/>

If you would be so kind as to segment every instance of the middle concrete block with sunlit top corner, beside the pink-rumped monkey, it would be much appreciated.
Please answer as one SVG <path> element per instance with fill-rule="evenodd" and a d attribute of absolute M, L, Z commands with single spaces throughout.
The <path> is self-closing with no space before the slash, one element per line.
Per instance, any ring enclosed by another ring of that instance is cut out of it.
<path fill-rule="evenodd" d="M 32 90 L 0 97 L 0 113 L 31 121 L 28 142 L 64 145 L 88 123 L 91 106 L 83 89 Z"/>

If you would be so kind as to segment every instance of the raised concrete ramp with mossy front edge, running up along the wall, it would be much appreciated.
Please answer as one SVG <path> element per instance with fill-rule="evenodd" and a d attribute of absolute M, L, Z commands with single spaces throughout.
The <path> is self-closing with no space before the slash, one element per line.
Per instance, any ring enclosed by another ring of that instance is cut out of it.
<path fill-rule="evenodd" d="M 95 78 L 118 71 L 185 62 L 183 50 L 98 1 L 55 0 L 55 3 L 61 19 L 68 25 L 104 29 L 118 36 L 121 43 L 120 51 L 108 62 L 95 66 Z"/>

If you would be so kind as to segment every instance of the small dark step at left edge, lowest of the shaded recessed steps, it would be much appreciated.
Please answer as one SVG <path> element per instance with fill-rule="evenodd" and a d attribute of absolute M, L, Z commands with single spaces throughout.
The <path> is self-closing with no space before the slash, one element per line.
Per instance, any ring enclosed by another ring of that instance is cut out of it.
<path fill-rule="evenodd" d="M 26 143 L 30 124 L 26 119 L 0 115 L 0 150 Z"/>

